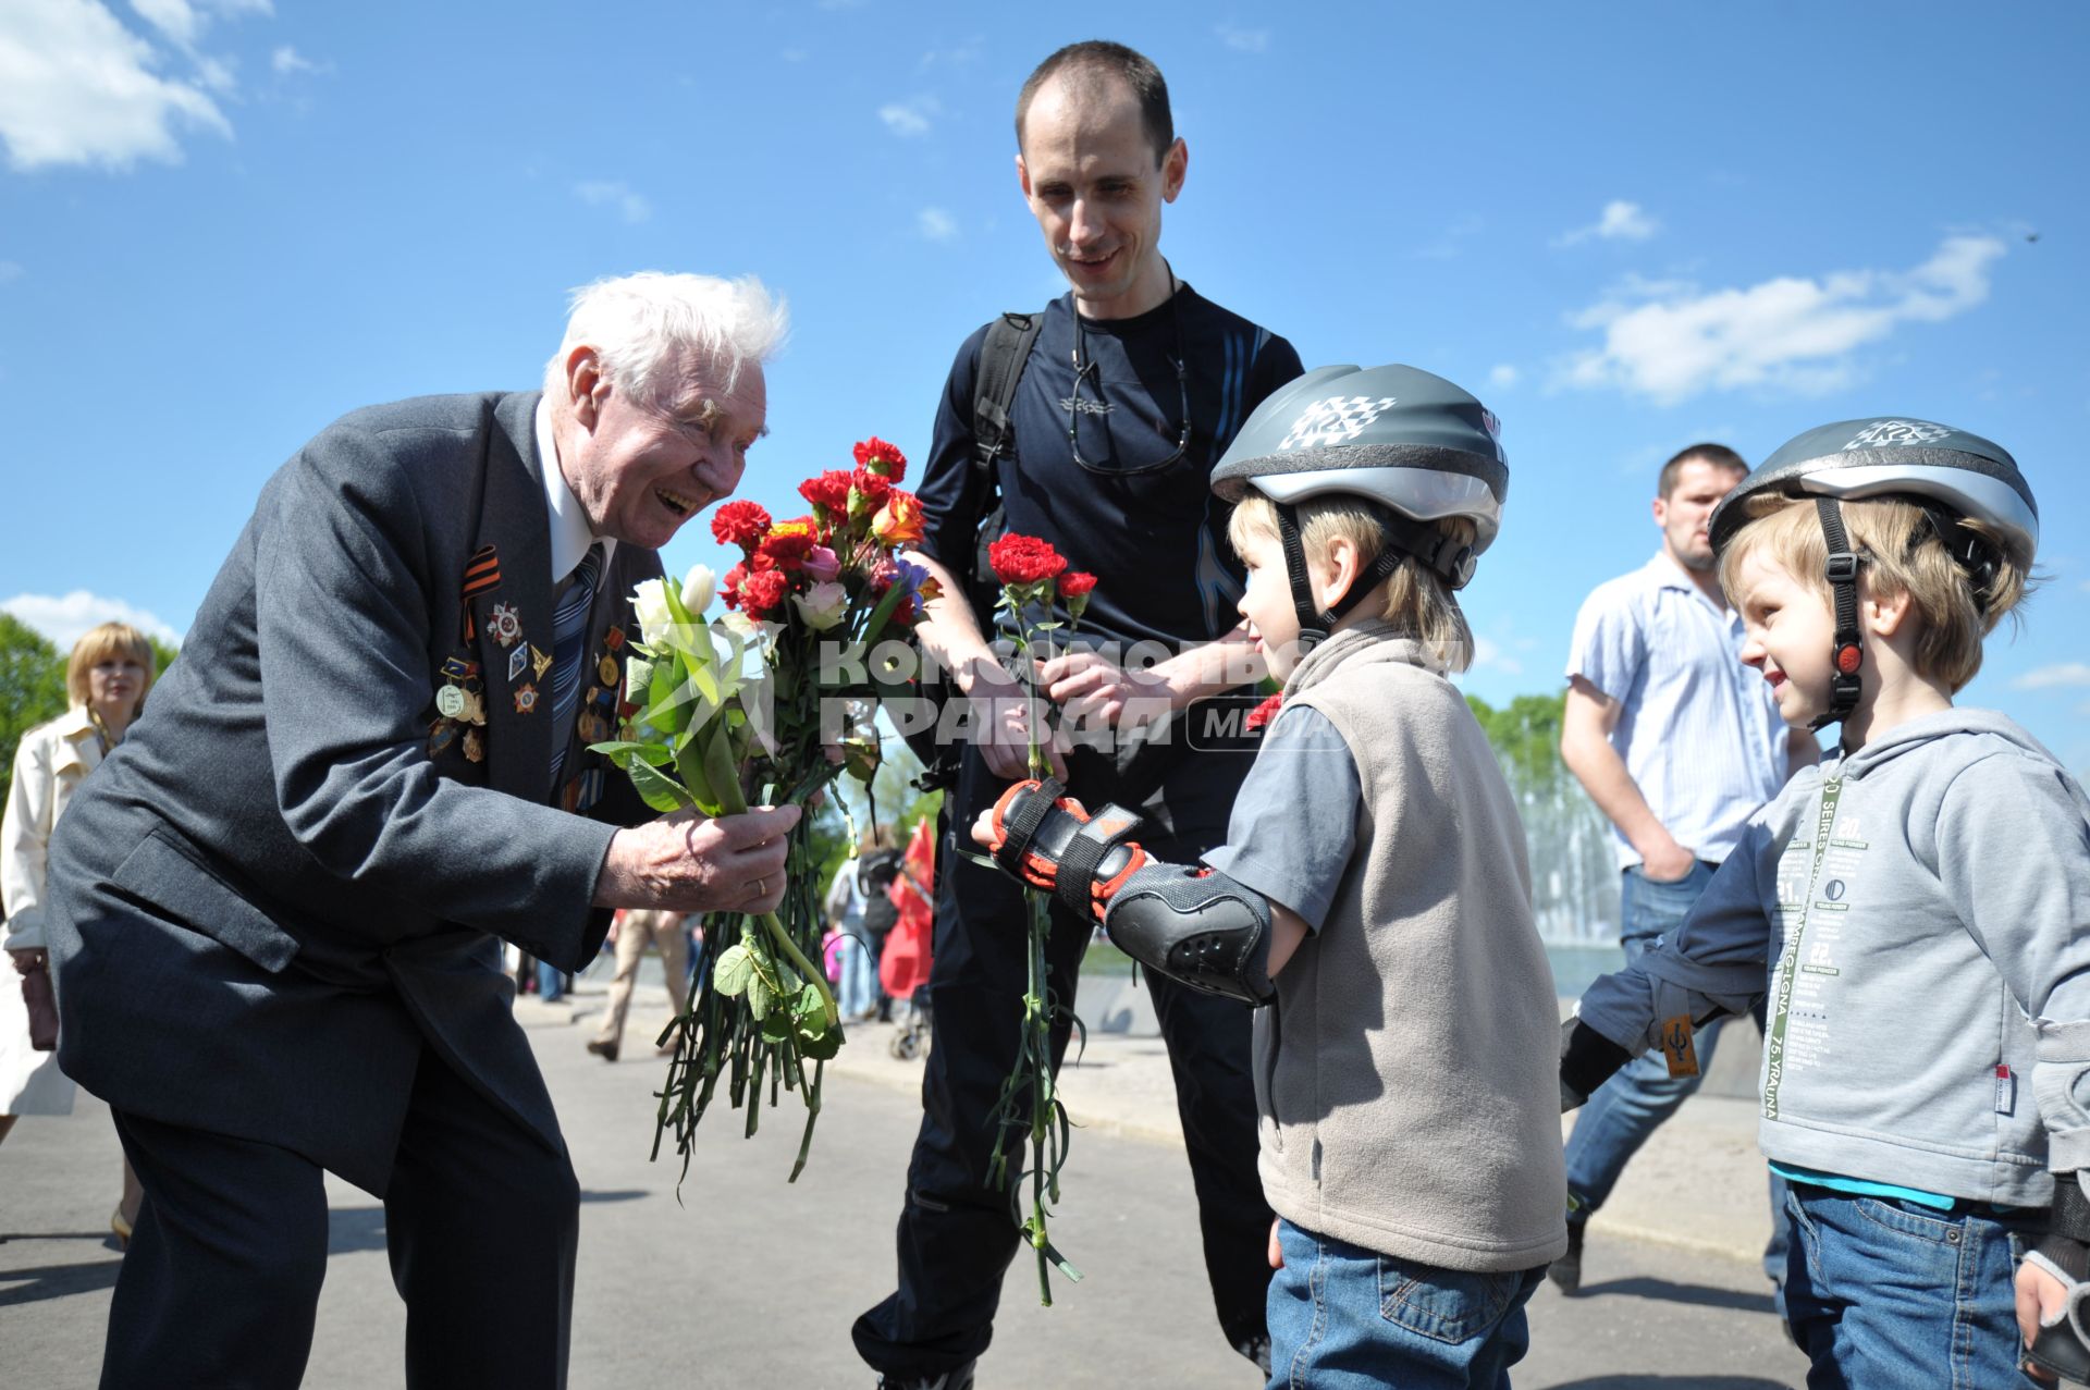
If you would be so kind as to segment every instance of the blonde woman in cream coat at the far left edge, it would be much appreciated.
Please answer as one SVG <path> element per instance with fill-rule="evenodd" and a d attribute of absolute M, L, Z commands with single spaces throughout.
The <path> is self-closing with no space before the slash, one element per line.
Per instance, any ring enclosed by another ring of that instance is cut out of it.
<path fill-rule="evenodd" d="M 65 663 L 71 702 L 50 723 L 21 736 L 15 748 L 15 784 L 0 819 L 0 905 L 6 909 L 4 945 L 15 964 L 0 970 L 0 1139 L 23 1114 L 71 1114 L 73 1083 L 59 1070 L 59 1053 L 29 1043 L 29 1007 L 21 982 L 44 972 L 44 853 L 50 830 L 100 761 L 123 742 L 153 688 L 153 644 L 136 627 L 102 623 L 73 644 Z M 130 1244 L 138 1221 L 138 1177 L 123 1164 L 123 1198 L 109 1229 Z"/>

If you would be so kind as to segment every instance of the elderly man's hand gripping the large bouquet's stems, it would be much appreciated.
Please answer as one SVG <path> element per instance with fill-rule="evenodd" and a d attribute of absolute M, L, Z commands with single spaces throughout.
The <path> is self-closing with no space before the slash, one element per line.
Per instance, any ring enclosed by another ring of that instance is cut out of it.
<path fill-rule="evenodd" d="M 709 819 L 696 811 L 619 830 L 596 878 L 596 907 L 775 911 L 784 901 L 784 836 L 798 807 L 752 807 Z"/>

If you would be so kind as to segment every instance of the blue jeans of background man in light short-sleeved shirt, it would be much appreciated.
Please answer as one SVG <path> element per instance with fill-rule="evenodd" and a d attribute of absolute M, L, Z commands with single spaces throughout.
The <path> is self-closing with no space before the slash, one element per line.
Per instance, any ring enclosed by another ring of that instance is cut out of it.
<path fill-rule="evenodd" d="M 1712 882 L 1714 865 L 1699 859 L 1691 872 L 1672 884 L 1653 882 L 1641 874 L 1639 865 L 1626 870 L 1618 903 L 1618 936 L 1626 947 L 1626 964 L 1641 959 L 1666 934 L 1682 926 L 1691 905 Z M 1576 1200 L 1576 1214 L 1586 1217 L 1603 1206 L 1618 1185 L 1618 1175 L 1626 1162 L 1641 1152 L 1647 1135 L 1662 1127 L 1662 1120 L 1676 1114 L 1678 1106 L 1699 1089 L 1703 1072 L 1712 1066 L 1712 1049 L 1720 1041 L 1716 1018 L 1697 1033 L 1697 1076 L 1670 1076 L 1662 1053 L 1647 1051 L 1628 1062 L 1616 1076 L 1597 1087 L 1597 1093 L 1582 1106 L 1574 1131 L 1568 1135 L 1568 1191 Z"/>

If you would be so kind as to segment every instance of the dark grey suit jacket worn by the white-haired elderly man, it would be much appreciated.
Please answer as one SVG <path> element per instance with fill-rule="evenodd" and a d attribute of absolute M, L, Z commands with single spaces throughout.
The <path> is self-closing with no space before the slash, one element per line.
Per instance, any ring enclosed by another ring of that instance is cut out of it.
<path fill-rule="evenodd" d="M 426 1043 L 562 1148 L 495 936 L 585 966 L 608 840 L 652 813 L 552 727 L 535 408 L 359 410 L 263 487 L 182 658 L 52 838 L 59 1060 L 109 1104 L 382 1194 Z M 500 585 L 468 596 L 489 546 Z M 619 546 L 598 587 L 596 711 L 623 684 L 631 585 L 658 573 Z M 458 725 L 431 738 L 445 661 L 479 667 L 483 761 Z M 602 792 L 587 815 L 554 805 L 554 738 L 566 805 Z"/>

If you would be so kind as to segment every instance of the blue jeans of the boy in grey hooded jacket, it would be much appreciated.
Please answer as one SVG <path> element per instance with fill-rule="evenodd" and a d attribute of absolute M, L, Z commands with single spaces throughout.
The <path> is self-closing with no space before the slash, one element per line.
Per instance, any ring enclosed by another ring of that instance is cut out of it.
<path fill-rule="evenodd" d="M 1785 1302 L 1814 1363 L 1808 1390 L 2036 1384 L 2017 1369 L 2013 1292 L 2031 1221 L 1812 1185 L 1793 1187 L 1785 1210 L 1793 1225 Z"/>

